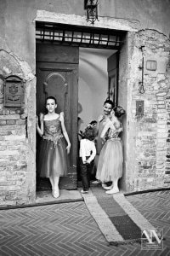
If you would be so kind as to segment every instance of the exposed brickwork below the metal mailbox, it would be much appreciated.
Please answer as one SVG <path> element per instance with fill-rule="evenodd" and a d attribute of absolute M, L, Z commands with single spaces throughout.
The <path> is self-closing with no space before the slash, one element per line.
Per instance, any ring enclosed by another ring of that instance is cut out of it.
<path fill-rule="evenodd" d="M 0 111 L 0 204 L 20 201 L 26 183 L 26 117 L 22 113 L 23 109 Z"/>

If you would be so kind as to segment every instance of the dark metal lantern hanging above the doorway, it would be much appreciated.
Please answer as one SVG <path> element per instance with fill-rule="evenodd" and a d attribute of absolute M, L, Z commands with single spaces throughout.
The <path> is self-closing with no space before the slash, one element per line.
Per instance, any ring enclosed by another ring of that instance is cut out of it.
<path fill-rule="evenodd" d="M 87 11 L 87 20 L 94 24 L 98 20 L 98 0 L 85 0 L 84 9 Z"/>

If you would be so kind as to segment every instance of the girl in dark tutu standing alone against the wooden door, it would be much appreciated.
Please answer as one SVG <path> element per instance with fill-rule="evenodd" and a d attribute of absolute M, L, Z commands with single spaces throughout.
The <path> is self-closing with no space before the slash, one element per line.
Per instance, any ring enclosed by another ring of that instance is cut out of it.
<path fill-rule="evenodd" d="M 37 132 L 42 137 L 39 151 L 38 171 L 40 177 L 48 177 L 52 195 L 59 197 L 59 177 L 67 173 L 66 153 L 70 153 L 71 143 L 65 130 L 64 114 L 55 113 L 56 99 L 46 100 L 48 113 L 40 113 L 40 126 L 37 119 Z M 65 141 L 67 146 L 65 145 Z"/>

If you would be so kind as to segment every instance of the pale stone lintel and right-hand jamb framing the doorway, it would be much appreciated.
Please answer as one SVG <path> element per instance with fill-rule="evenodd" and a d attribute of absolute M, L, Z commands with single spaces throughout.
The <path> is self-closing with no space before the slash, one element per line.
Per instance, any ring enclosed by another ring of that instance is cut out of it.
<path fill-rule="evenodd" d="M 43 22 L 54 22 L 54 23 L 60 23 L 60 24 L 67 24 L 67 25 L 73 25 L 73 26 L 85 26 L 85 27 L 94 27 L 94 25 L 87 23 L 86 17 L 85 16 L 80 16 L 80 15 L 65 15 L 65 14 L 59 14 L 59 13 L 52 13 L 49 11 L 45 11 L 45 10 L 37 10 L 37 16 L 35 18 L 35 31 L 36 31 L 36 21 L 43 21 Z M 120 58 L 119 58 L 119 67 L 123 66 L 122 70 L 124 69 L 124 67 L 127 67 L 127 72 L 128 72 L 128 61 L 129 61 L 129 56 L 128 56 L 128 51 L 130 50 L 130 46 L 131 46 L 131 39 L 129 39 L 131 37 L 131 35 L 134 34 L 134 32 L 138 32 L 137 29 L 132 28 L 131 26 L 115 20 L 114 18 L 102 18 L 99 17 L 99 22 L 95 23 L 95 26 L 102 29 L 102 28 L 106 28 L 106 29 L 113 29 L 113 30 L 122 30 L 124 32 L 127 32 L 125 35 L 125 42 L 126 44 L 123 45 L 122 50 L 120 51 Z M 36 40 L 35 40 L 35 44 L 36 44 Z M 126 61 L 126 64 L 123 63 L 124 61 Z M 119 73 L 119 80 L 122 79 L 122 73 Z M 121 81 L 122 82 L 122 81 Z M 127 90 L 127 79 L 123 80 L 123 86 L 125 88 L 125 90 Z M 126 86 L 126 87 L 125 87 Z M 123 89 L 124 91 L 124 89 Z M 122 96 L 121 96 L 122 97 Z M 127 111 L 127 102 L 128 102 L 128 97 L 129 95 L 126 94 L 126 102 L 119 102 L 119 104 L 122 104 L 122 107 Z M 119 96 L 118 96 L 119 98 Z M 123 166 L 123 172 L 124 175 L 122 177 L 122 188 L 127 190 L 127 169 L 129 168 L 127 166 L 127 137 L 128 137 L 128 132 L 127 132 L 127 115 L 126 115 L 126 119 L 124 121 L 124 127 L 126 127 L 126 129 L 124 129 L 124 134 L 123 134 L 123 144 L 124 144 L 124 155 L 125 155 L 125 160 L 124 160 L 124 166 Z"/>

